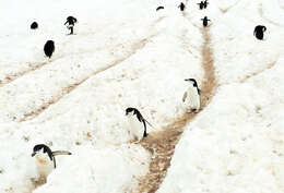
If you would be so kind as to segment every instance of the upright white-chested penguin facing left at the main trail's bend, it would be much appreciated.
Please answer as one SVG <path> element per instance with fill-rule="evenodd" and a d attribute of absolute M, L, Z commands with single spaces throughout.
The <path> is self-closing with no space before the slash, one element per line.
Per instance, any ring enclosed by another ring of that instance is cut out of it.
<path fill-rule="evenodd" d="M 185 92 L 182 101 L 186 105 L 187 112 L 198 112 L 200 109 L 200 89 L 194 79 L 187 79 L 190 82 L 189 88 Z"/>

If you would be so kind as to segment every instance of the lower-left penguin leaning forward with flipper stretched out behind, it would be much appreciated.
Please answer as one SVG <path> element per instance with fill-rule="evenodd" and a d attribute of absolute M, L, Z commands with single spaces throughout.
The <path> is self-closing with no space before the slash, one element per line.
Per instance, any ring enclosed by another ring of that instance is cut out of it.
<path fill-rule="evenodd" d="M 67 150 L 51 152 L 45 144 L 34 146 L 32 157 L 35 157 L 36 168 L 40 180 L 46 181 L 47 176 L 56 168 L 55 156 L 58 155 L 71 155 L 71 153 Z"/>

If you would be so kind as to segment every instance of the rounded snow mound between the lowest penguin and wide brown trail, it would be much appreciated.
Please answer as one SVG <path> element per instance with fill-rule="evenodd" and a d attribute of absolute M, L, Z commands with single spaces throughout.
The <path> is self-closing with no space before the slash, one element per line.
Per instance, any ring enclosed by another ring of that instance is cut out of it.
<path fill-rule="evenodd" d="M 149 156 L 137 145 L 92 146 L 72 150 L 60 168 L 48 177 L 48 183 L 33 193 L 47 192 L 131 192 L 138 179 L 147 172 Z"/>

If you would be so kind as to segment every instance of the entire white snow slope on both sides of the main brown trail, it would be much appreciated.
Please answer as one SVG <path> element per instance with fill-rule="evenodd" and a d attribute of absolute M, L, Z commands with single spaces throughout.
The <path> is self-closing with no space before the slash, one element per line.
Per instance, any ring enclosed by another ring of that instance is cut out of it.
<path fill-rule="evenodd" d="M 204 15 L 216 95 L 186 126 L 158 192 L 284 192 L 284 1 L 216 0 L 202 11 L 198 2 L 182 14 L 177 0 L 3 0 L 0 193 L 135 192 L 150 154 L 130 143 L 125 109 L 138 108 L 150 133 L 185 113 L 184 80 L 203 80 Z M 256 25 L 268 27 L 263 41 Z M 35 188 L 31 154 L 42 143 L 72 155 Z"/>

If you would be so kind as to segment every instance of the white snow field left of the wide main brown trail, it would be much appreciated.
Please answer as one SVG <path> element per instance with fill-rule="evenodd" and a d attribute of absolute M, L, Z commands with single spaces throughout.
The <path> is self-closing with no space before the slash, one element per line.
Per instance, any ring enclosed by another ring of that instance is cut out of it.
<path fill-rule="evenodd" d="M 69 1 L 67 11 L 66 2 L 20 2 L 24 16 L 3 27 L 1 44 L 9 46 L 0 62 L 1 79 L 27 72 L 0 87 L 0 192 L 35 189 L 37 172 L 31 154 L 39 143 L 72 155 L 58 157 L 47 183 L 34 192 L 133 191 L 147 172 L 149 153 L 127 143 L 132 138 L 125 109 L 137 107 L 154 125 L 150 132 L 161 130 L 185 112 L 184 80 L 202 81 L 201 34 L 178 10 L 155 13 L 151 1 L 128 0 L 110 8 L 100 1 L 86 2 L 93 5 L 88 8 Z M 13 3 L 5 7 L 17 9 Z M 96 7 L 106 9 L 92 10 Z M 31 33 L 32 10 L 38 11 L 40 20 L 39 29 Z M 52 14 L 46 16 L 49 11 Z M 79 19 L 75 36 L 66 36 L 62 27 L 69 14 Z M 11 27 L 15 23 L 16 31 Z M 56 43 L 50 60 L 42 52 L 47 39 Z M 24 52 L 14 55 L 14 50 Z M 44 65 L 28 72 L 38 63 Z M 103 71 L 111 64 L 116 67 Z M 76 83 L 82 84 L 69 94 L 63 92 Z M 54 99 L 37 117 L 19 122 Z"/>

